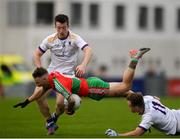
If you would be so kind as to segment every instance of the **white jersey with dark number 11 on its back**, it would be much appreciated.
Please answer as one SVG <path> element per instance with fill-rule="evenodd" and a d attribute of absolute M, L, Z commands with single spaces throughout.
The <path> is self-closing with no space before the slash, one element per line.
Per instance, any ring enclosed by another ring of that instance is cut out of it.
<path fill-rule="evenodd" d="M 140 128 L 148 130 L 151 126 L 174 135 L 180 132 L 180 110 L 170 110 L 153 96 L 144 96 L 145 110 L 142 115 Z"/>

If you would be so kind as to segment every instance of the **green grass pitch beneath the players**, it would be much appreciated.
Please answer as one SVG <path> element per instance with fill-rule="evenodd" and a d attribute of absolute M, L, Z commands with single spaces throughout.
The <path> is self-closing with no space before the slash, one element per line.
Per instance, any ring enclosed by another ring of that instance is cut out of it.
<path fill-rule="evenodd" d="M 101 101 L 83 99 L 81 107 L 73 116 L 63 115 L 55 135 L 47 136 L 45 121 L 38 111 L 36 103 L 24 109 L 14 109 L 13 104 L 23 99 L 0 99 L 0 138 L 105 138 L 104 132 L 113 128 L 119 132 L 134 129 L 140 117 L 132 114 L 124 98 L 108 98 Z M 180 98 L 163 98 L 162 102 L 170 108 L 179 108 Z M 54 99 L 49 99 L 51 112 L 55 109 Z M 165 138 L 155 129 L 146 133 L 143 138 Z M 175 136 L 180 137 L 180 136 Z"/>

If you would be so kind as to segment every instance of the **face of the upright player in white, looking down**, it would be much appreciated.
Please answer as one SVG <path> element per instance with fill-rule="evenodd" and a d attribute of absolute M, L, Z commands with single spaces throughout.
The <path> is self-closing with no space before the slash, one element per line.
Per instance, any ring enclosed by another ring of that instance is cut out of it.
<path fill-rule="evenodd" d="M 64 39 L 68 36 L 69 26 L 68 26 L 67 22 L 65 22 L 65 23 L 56 22 L 55 28 L 58 33 L 59 39 Z"/>

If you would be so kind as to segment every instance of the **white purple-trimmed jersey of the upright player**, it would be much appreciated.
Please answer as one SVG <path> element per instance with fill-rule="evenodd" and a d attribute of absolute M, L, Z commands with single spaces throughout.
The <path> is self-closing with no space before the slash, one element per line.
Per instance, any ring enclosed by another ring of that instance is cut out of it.
<path fill-rule="evenodd" d="M 59 71 L 67 75 L 74 75 L 79 49 L 83 50 L 88 44 L 77 34 L 69 31 L 68 37 L 59 39 L 57 33 L 46 37 L 39 46 L 39 50 L 45 53 L 51 52 L 51 63 L 48 71 Z"/>

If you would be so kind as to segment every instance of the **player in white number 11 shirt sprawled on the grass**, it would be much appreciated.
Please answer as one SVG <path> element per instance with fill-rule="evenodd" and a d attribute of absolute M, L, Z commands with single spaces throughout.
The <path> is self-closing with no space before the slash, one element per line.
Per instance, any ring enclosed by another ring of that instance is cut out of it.
<path fill-rule="evenodd" d="M 154 96 L 142 96 L 140 93 L 130 93 L 127 96 L 131 112 L 142 115 L 138 127 L 127 133 L 118 133 L 112 129 L 106 130 L 108 136 L 140 136 L 150 127 L 164 132 L 167 135 L 180 134 L 180 110 L 169 109 L 160 99 Z"/>

